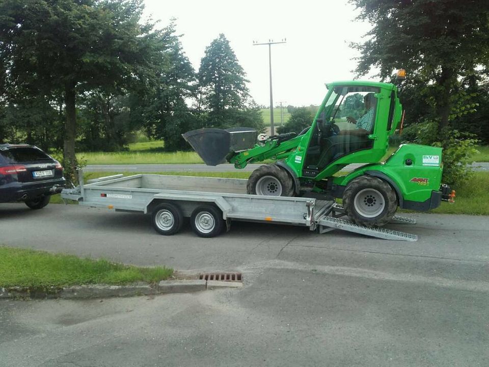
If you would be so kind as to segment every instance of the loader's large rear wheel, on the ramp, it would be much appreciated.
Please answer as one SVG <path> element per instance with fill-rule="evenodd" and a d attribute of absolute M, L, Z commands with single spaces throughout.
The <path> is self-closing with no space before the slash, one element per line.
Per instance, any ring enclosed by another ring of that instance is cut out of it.
<path fill-rule="evenodd" d="M 396 213 L 397 196 L 386 181 L 373 176 L 360 176 L 348 183 L 343 192 L 343 207 L 352 222 L 381 227 Z"/>

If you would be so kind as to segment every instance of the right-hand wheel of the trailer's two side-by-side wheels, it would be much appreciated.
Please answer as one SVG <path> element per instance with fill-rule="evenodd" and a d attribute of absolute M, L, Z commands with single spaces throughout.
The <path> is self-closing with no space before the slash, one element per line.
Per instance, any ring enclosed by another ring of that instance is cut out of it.
<path fill-rule="evenodd" d="M 223 213 L 212 205 L 197 207 L 190 217 L 190 224 L 199 237 L 211 238 L 221 234 L 226 228 Z"/>

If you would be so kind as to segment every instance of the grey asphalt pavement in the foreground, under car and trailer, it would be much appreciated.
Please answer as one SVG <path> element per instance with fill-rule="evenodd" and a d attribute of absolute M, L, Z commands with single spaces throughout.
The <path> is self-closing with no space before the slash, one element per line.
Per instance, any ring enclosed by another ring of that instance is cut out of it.
<path fill-rule="evenodd" d="M 5 245 L 183 271 L 241 290 L 0 301 L 6 366 L 486 366 L 489 217 L 413 215 L 419 241 L 233 223 L 164 237 L 144 215 L 0 204 Z"/>

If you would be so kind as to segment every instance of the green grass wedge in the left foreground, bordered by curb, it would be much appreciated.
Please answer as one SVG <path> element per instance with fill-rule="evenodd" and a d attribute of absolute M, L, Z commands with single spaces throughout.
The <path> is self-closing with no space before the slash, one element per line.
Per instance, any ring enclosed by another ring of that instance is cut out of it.
<path fill-rule="evenodd" d="M 73 255 L 0 247 L 0 287 L 62 287 L 79 284 L 155 283 L 173 269 L 140 268 Z"/>

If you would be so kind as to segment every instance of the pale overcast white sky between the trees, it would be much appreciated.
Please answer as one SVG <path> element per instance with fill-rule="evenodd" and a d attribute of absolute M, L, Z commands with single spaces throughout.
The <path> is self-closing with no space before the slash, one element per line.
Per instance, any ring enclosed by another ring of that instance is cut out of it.
<path fill-rule="evenodd" d="M 183 50 L 197 71 L 205 47 L 224 33 L 250 80 L 255 101 L 269 105 L 268 46 L 253 41 L 287 43 L 272 46 L 274 105 L 319 104 L 324 83 L 350 80 L 358 56 L 348 47 L 360 41 L 369 25 L 355 20 L 358 10 L 347 0 L 283 2 L 275 0 L 145 0 L 146 15 L 165 27 L 177 18 Z"/>

